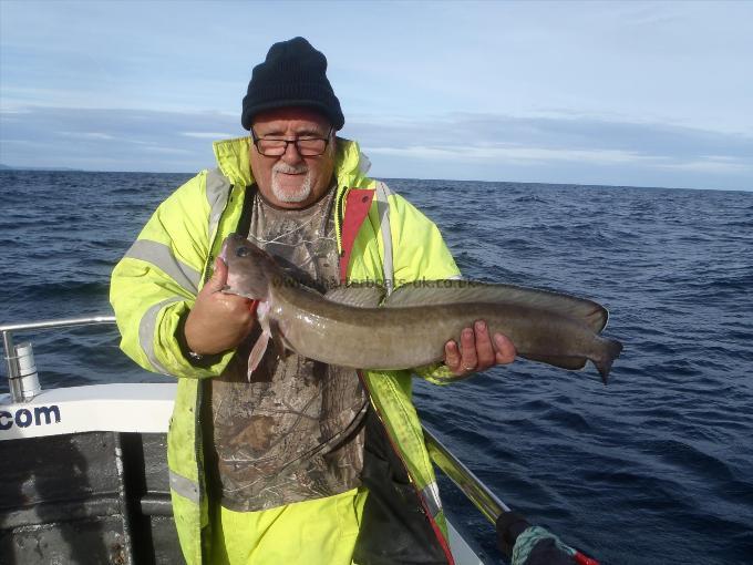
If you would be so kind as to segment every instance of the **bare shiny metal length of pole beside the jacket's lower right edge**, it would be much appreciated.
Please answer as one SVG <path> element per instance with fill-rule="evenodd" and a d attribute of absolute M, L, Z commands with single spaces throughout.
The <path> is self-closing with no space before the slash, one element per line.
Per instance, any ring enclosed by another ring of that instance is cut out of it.
<path fill-rule="evenodd" d="M 510 511 L 507 504 L 497 499 L 467 466 L 436 439 L 436 435 L 429 431 L 426 427 L 424 427 L 423 431 L 429 455 L 436 466 L 463 491 L 492 524 L 496 524 L 499 514 Z"/>

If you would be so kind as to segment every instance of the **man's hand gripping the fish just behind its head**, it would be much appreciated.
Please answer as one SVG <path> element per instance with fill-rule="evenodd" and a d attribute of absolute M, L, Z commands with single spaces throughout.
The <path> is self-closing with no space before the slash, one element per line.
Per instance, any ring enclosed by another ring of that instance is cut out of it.
<path fill-rule="evenodd" d="M 221 292 L 226 281 L 227 265 L 217 258 L 215 274 L 199 291 L 186 318 L 186 345 L 196 353 L 213 355 L 233 349 L 254 328 L 254 301 Z"/>

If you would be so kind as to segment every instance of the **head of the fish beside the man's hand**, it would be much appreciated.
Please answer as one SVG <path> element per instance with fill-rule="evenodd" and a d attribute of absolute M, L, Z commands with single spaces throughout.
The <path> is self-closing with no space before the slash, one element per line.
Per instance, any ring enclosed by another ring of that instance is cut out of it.
<path fill-rule="evenodd" d="M 282 277 L 280 268 L 267 251 L 238 234 L 225 238 L 219 257 L 227 265 L 224 292 L 251 300 L 267 300 L 270 286 Z"/>

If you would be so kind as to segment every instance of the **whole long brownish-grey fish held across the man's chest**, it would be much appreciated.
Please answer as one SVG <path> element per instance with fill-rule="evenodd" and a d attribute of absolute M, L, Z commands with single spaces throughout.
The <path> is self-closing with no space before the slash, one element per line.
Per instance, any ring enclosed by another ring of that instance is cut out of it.
<path fill-rule="evenodd" d="M 405 370 L 444 360 L 444 346 L 485 320 L 518 357 L 563 369 L 591 361 L 604 383 L 622 345 L 601 336 L 609 314 L 575 296 L 474 280 L 419 280 L 384 296 L 378 285 L 343 285 L 321 294 L 292 280 L 272 256 L 231 234 L 220 257 L 224 292 L 257 300 L 261 335 L 250 373 L 270 341 L 279 356 L 300 356 L 354 369 Z"/>

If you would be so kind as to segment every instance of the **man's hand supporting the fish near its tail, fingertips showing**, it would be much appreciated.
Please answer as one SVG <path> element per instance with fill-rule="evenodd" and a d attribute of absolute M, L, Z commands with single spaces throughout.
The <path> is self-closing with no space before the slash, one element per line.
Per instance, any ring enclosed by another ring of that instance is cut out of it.
<path fill-rule="evenodd" d="M 477 320 L 473 328 L 461 332 L 461 347 L 454 340 L 444 346 L 444 362 L 452 372 L 461 377 L 485 371 L 495 364 L 508 364 L 515 360 L 515 346 L 502 333 L 494 335 L 494 346 L 484 320 Z"/>

